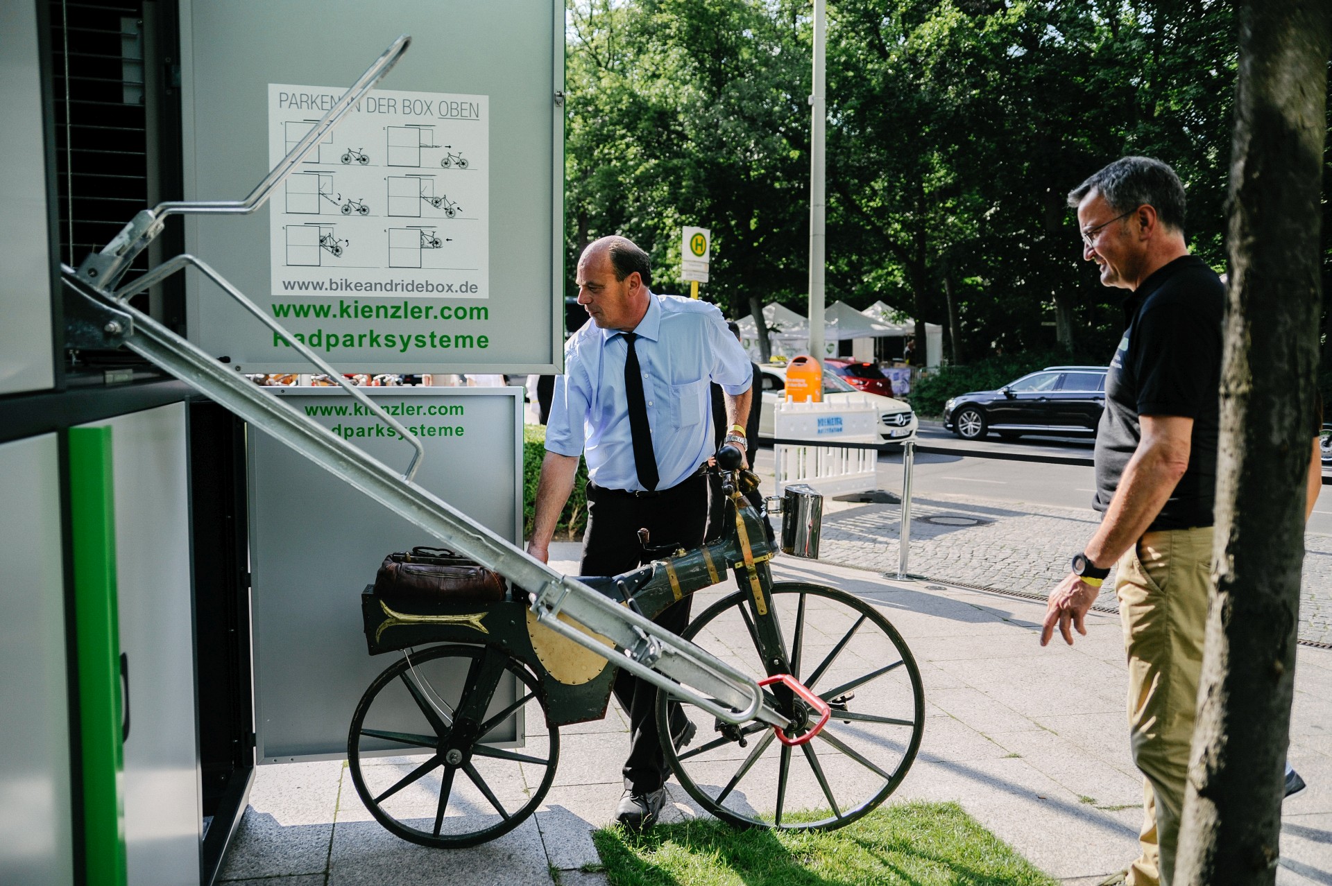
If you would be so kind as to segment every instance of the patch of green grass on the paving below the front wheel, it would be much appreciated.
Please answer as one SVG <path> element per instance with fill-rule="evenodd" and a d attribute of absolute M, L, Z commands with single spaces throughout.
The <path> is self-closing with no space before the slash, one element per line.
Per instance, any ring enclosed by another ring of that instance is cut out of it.
<path fill-rule="evenodd" d="M 705 819 L 643 834 L 606 827 L 593 842 L 611 886 L 1054 883 L 956 804 L 887 806 L 826 833 L 735 830 Z"/>

